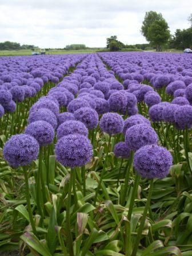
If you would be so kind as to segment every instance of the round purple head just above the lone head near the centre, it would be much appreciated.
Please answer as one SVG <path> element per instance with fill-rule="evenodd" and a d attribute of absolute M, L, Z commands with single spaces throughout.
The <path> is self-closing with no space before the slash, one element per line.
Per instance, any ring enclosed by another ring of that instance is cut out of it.
<path fill-rule="evenodd" d="M 122 112 L 123 109 L 126 109 L 126 106 L 127 106 L 126 94 L 123 94 L 117 91 L 117 93 L 113 93 L 110 95 L 108 101 L 109 101 L 109 107 L 111 111 Z"/>

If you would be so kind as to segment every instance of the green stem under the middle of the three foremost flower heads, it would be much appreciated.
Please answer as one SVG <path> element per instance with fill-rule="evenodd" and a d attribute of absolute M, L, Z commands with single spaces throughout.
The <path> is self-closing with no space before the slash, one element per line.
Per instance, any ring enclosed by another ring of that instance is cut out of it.
<path fill-rule="evenodd" d="M 70 223 L 71 189 L 73 186 L 74 171 L 75 171 L 74 169 L 71 169 L 70 179 L 69 179 L 69 190 L 68 190 L 68 196 L 67 196 L 67 209 L 66 209 L 66 232 L 67 232 L 67 241 L 68 241 L 70 256 L 74 256 L 73 237 L 71 233 L 71 223 Z"/>

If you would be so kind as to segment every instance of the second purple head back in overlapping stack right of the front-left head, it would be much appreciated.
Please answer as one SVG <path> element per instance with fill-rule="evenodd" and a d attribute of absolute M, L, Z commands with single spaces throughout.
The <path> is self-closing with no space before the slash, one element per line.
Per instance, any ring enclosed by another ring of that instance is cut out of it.
<path fill-rule="evenodd" d="M 49 109 L 36 109 L 29 114 L 28 123 L 33 123 L 35 121 L 46 121 L 53 126 L 54 129 L 57 127 L 57 117 Z"/>

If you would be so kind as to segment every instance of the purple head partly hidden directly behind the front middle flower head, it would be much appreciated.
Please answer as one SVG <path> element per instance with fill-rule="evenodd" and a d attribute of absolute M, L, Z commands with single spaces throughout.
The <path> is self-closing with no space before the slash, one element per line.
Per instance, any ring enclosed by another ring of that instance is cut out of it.
<path fill-rule="evenodd" d="M 69 134 L 81 134 L 87 136 L 88 130 L 84 123 L 76 120 L 69 120 L 59 125 L 57 129 L 57 138 L 60 139 Z"/>

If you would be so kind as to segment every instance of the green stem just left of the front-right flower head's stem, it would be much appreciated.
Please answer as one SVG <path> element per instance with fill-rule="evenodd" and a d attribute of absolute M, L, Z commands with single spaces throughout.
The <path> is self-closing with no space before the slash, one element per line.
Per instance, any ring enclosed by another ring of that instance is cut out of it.
<path fill-rule="evenodd" d="M 131 248 L 131 215 L 133 212 L 133 206 L 134 206 L 135 196 L 136 196 L 137 190 L 138 190 L 139 180 L 140 180 L 140 176 L 137 174 L 135 177 L 135 182 L 134 182 L 134 186 L 133 186 L 133 190 L 132 190 L 132 194 L 131 194 L 129 211 L 127 214 L 127 223 L 125 225 L 125 233 L 126 233 L 126 238 L 125 238 L 126 254 L 125 255 L 126 256 L 130 256 L 131 250 L 132 250 L 132 248 Z"/>

